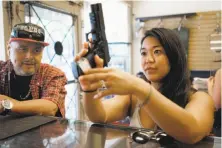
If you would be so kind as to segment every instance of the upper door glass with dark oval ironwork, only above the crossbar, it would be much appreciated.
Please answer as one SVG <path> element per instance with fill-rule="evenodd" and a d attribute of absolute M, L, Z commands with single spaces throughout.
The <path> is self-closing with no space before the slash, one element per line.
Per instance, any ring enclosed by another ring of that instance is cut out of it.
<path fill-rule="evenodd" d="M 43 63 L 51 64 L 61 69 L 69 81 L 74 80 L 70 63 L 74 57 L 74 35 L 72 16 L 54 12 L 48 9 L 32 6 L 31 22 L 44 28 L 45 42 L 49 43 L 43 51 Z M 29 17 L 25 21 L 29 22 Z M 61 42 L 63 51 L 61 55 L 56 54 L 54 46 Z"/>

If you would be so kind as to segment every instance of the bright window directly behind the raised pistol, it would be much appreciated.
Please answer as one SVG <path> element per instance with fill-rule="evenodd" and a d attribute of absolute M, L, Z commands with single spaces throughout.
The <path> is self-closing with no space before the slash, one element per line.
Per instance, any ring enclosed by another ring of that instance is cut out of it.
<path fill-rule="evenodd" d="M 109 67 L 131 72 L 130 7 L 125 2 L 103 2 L 102 8 L 111 57 Z M 87 5 L 87 10 L 84 19 L 85 32 L 90 31 L 90 5 Z"/>

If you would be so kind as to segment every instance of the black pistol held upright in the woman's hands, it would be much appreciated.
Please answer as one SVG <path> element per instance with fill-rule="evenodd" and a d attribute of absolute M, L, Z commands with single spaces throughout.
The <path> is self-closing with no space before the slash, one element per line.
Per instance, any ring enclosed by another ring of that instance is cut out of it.
<path fill-rule="evenodd" d="M 72 71 L 76 79 L 84 74 L 83 71 L 96 67 L 96 63 L 94 61 L 94 56 L 96 54 L 103 59 L 103 67 L 107 66 L 110 61 L 101 3 L 91 5 L 89 18 L 91 31 L 86 33 L 86 41 L 91 43 L 91 47 L 89 47 L 88 53 L 84 57 L 82 57 L 78 62 L 72 63 Z M 89 41 L 88 38 L 89 34 L 92 35 L 91 41 Z"/>

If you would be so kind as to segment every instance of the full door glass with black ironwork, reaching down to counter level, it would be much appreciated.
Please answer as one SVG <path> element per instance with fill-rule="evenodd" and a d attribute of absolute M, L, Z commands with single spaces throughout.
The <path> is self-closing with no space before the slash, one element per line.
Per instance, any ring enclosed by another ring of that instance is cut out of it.
<path fill-rule="evenodd" d="M 26 5 L 30 10 L 26 11 L 25 21 L 32 22 L 44 28 L 45 42 L 50 45 L 43 51 L 42 63 L 47 63 L 61 69 L 68 80 L 66 85 L 67 95 L 65 98 L 66 118 L 76 119 L 78 114 L 78 93 L 74 81 L 71 62 L 74 59 L 74 20 L 76 16 L 71 13 L 63 13 L 56 9 L 48 9 L 41 5 Z M 60 42 L 62 52 L 56 51 L 55 45 Z"/>

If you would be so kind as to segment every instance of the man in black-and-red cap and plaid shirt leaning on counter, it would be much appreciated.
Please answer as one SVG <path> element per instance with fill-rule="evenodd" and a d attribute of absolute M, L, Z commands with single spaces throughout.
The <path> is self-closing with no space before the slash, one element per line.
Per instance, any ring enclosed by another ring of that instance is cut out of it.
<path fill-rule="evenodd" d="M 10 60 L 0 61 L 0 114 L 9 112 L 65 116 L 67 83 L 64 73 L 41 63 L 43 28 L 31 23 L 13 27 L 8 43 Z"/>

